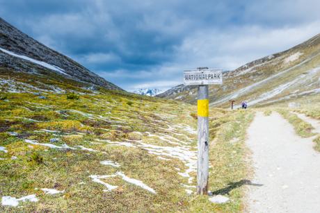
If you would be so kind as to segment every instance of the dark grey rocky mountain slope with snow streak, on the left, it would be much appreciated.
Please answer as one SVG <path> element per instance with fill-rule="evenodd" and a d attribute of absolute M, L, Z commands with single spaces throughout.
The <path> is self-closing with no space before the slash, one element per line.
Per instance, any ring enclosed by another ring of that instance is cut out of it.
<path fill-rule="evenodd" d="M 64 78 L 101 86 L 109 90 L 122 90 L 104 78 L 63 56 L 0 18 L 0 67 L 33 74 L 56 73 Z"/>

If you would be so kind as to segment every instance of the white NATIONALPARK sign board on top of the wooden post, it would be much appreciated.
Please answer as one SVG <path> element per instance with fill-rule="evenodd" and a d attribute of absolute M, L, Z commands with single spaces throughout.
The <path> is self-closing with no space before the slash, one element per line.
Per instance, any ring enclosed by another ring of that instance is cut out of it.
<path fill-rule="evenodd" d="M 221 69 L 184 71 L 184 85 L 222 85 Z"/>

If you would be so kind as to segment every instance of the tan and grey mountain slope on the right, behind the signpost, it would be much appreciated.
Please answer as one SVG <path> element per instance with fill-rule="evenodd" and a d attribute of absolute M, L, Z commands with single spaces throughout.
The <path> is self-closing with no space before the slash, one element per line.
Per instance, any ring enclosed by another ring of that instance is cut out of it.
<path fill-rule="evenodd" d="M 222 86 L 209 87 L 211 105 L 287 104 L 318 101 L 320 92 L 320 34 L 287 51 L 275 53 L 225 72 Z M 196 87 L 179 85 L 160 97 L 195 103 Z"/>

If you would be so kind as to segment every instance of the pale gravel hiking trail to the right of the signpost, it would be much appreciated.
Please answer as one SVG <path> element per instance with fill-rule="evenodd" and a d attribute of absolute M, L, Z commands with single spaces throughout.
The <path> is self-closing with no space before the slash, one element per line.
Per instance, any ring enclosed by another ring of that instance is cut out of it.
<path fill-rule="evenodd" d="M 258 112 L 248 129 L 255 176 L 248 186 L 249 212 L 319 212 L 320 153 L 280 114 Z"/>

